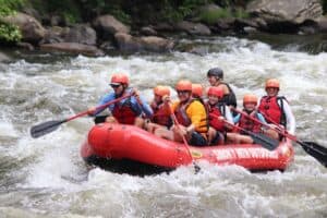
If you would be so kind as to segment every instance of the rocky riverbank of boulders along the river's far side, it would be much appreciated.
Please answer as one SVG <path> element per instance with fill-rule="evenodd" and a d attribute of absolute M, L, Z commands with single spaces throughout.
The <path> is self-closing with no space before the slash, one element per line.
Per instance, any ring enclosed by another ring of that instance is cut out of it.
<path fill-rule="evenodd" d="M 253 0 L 244 5 L 249 17 L 206 20 L 198 14 L 215 14 L 225 9 L 207 4 L 192 17 L 180 22 L 135 21 L 130 25 L 111 14 L 100 14 L 84 23 L 64 24 L 56 14 L 48 21 L 36 10 L 23 9 L 1 22 L 19 26 L 22 41 L 28 50 L 104 56 L 112 50 L 166 52 L 178 49 L 171 36 L 246 35 L 254 32 L 270 34 L 311 35 L 327 33 L 327 17 L 319 0 Z"/>

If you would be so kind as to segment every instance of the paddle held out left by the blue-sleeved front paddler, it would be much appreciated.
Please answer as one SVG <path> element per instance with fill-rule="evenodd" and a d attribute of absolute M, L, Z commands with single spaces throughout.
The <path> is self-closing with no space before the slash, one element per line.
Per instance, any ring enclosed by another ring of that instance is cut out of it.
<path fill-rule="evenodd" d="M 120 101 L 120 100 L 122 100 L 124 98 L 131 97 L 132 95 L 134 95 L 134 94 L 129 94 L 129 95 L 122 96 L 120 98 L 117 98 L 114 100 L 111 100 L 109 102 L 106 102 L 106 104 L 104 104 L 104 105 L 98 106 L 97 108 L 95 108 L 95 110 L 99 110 L 99 109 L 106 108 L 109 105 L 114 104 L 117 101 Z M 43 136 L 43 135 L 46 135 L 46 134 L 48 134 L 48 133 L 53 132 L 55 130 L 57 130 L 59 128 L 59 125 L 61 125 L 62 123 L 69 122 L 71 120 L 74 120 L 76 118 L 80 118 L 80 117 L 83 117 L 83 116 L 86 116 L 86 114 L 88 114 L 88 110 L 86 110 L 84 112 L 81 112 L 81 113 L 77 113 L 77 114 L 75 114 L 73 117 L 63 119 L 63 120 L 52 120 L 52 121 L 47 121 L 47 122 L 34 125 L 31 129 L 31 135 L 32 135 L 32 137 L 35 137 L 35 138 L 39 137 L 39 136 Z"/>

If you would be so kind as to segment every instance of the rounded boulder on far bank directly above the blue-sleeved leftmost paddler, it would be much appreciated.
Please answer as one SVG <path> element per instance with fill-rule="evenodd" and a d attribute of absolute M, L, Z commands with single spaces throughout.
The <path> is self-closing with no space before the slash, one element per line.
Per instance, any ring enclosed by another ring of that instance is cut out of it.
<path fill-rule="evenodd" d="M 98 16 L 93 22 L 94 27 L 100 33 L 102 37 L 113 36 L 116 33 L 130 33 L 130 27 L 114 19 L 112 15 Z"/>

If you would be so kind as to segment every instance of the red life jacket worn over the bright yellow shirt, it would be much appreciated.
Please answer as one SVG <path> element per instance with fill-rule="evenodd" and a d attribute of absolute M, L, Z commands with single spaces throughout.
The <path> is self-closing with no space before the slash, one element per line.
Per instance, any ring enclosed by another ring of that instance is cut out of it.
<path fill-rule="evenodd" d="M 198 99 L 194 99 L 192 98 L 191 100 L 189 100 L 189 102 L 186 102 L 185 105 L 181 106 L 181 104 L 179 104 L 174 110 L 174 116 L 178 120 L 178 122 L 181 124 L 181 125 L 184 125 L 184 126 L 189 126 L 192 124 L 192 121 L 191 119 L 189 118 L 187 113 L 186 113 L 186 110 L 189 108 L 189 106 L 194 102 L 195 100 L 198 100 Z M 201 129 L 203 129 L 199 133 L 206 133 L 208 131 L 208 122 L 207 122 L 207 119 L 204 119 L 202 122 L 205 122 L 204 125 L 201 125 Z M 198 131 L 197 131 L 198 132 Z"/>

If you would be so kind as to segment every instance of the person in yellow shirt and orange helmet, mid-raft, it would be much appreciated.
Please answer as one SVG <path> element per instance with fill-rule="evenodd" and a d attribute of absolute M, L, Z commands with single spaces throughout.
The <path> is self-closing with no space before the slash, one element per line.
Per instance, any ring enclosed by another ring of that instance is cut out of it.
<path fill-rule="evenodd" d="M 207 145 L 207 113 L 204 105 L 192 97 L 192 83 L 179 81 L 175 85 L 179 100 L 171 105 L 171 112 L 177 118 L 177 123 L 166 130 L 165 138 L 183 143 L 186 138 L 190 145 Z M 166 97 L 169 100 L 169 97 Z"/>

